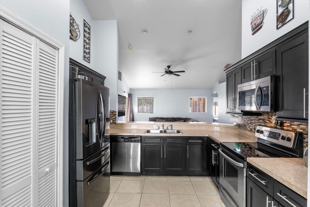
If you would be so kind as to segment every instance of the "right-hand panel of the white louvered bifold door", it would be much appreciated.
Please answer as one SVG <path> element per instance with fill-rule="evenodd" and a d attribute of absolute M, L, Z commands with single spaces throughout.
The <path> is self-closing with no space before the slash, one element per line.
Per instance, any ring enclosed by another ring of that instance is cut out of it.
<path fill-rule="evenodd" d="M 57 150 L 57 50 L 42 42 L 38 46 L 38 203 L 39 206 L 55 206 L 56 170 L 51 169 L 56 166 Z"/>

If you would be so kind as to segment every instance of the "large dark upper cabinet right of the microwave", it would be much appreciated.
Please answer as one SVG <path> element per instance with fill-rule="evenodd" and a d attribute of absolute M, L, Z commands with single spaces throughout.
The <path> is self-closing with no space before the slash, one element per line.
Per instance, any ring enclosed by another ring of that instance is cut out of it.
<path fill-rule="evenodd" d="M 308 119 L 308 32 L 276 51 L 277 116 Z"/>

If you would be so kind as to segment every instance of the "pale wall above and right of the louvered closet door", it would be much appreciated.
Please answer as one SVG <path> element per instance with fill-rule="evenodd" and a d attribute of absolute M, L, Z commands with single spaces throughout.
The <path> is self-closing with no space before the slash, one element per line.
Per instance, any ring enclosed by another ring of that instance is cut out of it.
<path fill-rule="evenodd" d="M 1 0 L 0 6 L 64 45 L 62 206 L 68 206 L 69 0 Z"/>

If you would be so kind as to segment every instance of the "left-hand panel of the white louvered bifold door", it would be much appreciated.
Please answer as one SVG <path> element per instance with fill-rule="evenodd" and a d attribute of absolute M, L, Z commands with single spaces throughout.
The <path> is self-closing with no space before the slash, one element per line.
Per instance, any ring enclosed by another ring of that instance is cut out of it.
<path fill-rule="evenodd" d="M 30 206 L 34 38 L 5 22 L 1 29 L 1 203 Z"/>

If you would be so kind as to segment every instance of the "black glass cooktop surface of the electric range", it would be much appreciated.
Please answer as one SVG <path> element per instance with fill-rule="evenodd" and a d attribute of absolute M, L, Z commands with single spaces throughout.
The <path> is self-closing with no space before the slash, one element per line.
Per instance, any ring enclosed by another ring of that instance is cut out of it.
<path fill-rule="evenodd" d="M 261 143 L 220 143 L 221 147 L 237 156 L 247 160 L 253 157 L 292 157 L 275 149 L 271 149 Z"/>

